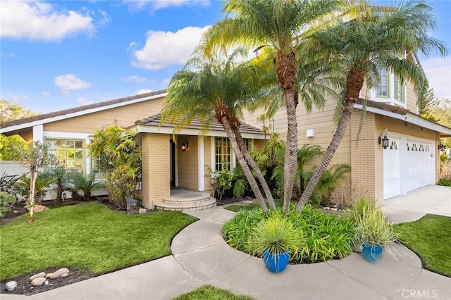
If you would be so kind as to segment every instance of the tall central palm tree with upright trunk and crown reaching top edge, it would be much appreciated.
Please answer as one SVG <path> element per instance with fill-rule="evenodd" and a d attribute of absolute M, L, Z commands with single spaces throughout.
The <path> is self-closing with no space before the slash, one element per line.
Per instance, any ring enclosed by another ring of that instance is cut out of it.
<path fill-rule="evenodd" d="M 284 204 L 288 213 L 297 169 L 297 83 L 298 46 L 308 36 L 315 21 L 338 11 L 339 0 L 228 0 L 223 9 L 228 16 L 206 33 L 206 49 L 235 46 L 271 49 L 276 78 L 283 90 L 288 120 L 285 147 Z"/>

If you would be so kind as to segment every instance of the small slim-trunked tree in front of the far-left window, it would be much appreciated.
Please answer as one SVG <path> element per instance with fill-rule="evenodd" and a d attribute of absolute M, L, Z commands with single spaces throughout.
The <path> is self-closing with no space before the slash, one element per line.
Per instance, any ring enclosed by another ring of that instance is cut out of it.
<path fill-rule="evenodd" d="M 49 152 L 47 144 L 44 144 L 42 141 L 29 142 L 25 148 L 13 145 L 13 151 L 15 151 L 18 157 L 18 163 L 30 170 L 30 195 L 27 201 L 27 222 L 32 222 L 35 220 L 35 185 L 37 175 L 44 168 L 49 168 L 52 165 L 56 166 L 58 164 L 58 158 Z"/>

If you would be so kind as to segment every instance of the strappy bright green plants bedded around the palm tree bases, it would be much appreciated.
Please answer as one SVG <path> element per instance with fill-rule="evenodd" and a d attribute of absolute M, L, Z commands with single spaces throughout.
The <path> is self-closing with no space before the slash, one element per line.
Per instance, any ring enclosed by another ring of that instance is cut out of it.
<path fill-rule="evenodd" d="M 281 214 L 280 208 L 266 215 L 259 208 L 240 211 L 223 226 L 223 237 L 235 249 L 252 253 L 248 247 L 252 231 L 274 214 Z M 321 213 L 311 206 L 304 207 L 302 213 L 296 213 L 292 206 L 284 218 L 295 225 L 297 232 L 304 232 L 304 242 L 290 253 L 290 263 L 315 263 L 352 254 L 351 244 L 357 234 L 350 218 Z"/>

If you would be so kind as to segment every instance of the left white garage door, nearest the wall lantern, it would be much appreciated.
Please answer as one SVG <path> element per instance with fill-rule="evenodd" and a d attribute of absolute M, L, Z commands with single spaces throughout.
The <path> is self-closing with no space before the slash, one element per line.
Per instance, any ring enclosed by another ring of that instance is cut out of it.
<path fill-rule="evenodd" d="M 383 199 L 401 194 L 400 139 L 390 139 L 383 151 Z"/>

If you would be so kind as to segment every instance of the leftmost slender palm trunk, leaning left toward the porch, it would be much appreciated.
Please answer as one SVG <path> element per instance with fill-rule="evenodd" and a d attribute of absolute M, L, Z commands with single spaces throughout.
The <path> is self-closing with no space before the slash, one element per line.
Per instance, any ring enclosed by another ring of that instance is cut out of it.
<path fill-rule="evenodd" d="M 257 181 L 255 181 L 254 176 L 252 175 L 251 170 L 249 169 L 249 165 L 247 165 L 244 156 L 240 150 L 240 146 L 238 146 L 237 139 L 233 134 L 232 127 L 230 127 L 230 123 L 225 115 L 221 117 L 221 124 L 226 131 L 227 137 L 230 140 L 230 146 L 232 146 L 235 155 L 237 156 L 237 161 L 240 163 L 243 173 L 245 174 L 249 185 L 251 186 L 252 192 L 254 192 L 257 201 L 259 202 L 261 209 L 263 211 L 268 211 L 268 206 L 266 206 L 263 195 L 260 192 L 259 186 L 257 185 Z"/>

